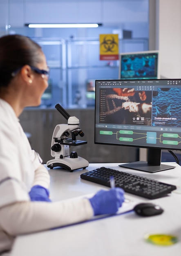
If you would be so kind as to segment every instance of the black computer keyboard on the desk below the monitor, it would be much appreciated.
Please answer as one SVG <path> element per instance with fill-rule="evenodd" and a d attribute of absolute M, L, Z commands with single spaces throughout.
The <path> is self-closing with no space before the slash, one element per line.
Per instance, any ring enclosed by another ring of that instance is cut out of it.
<path fill-rule="evenodd" d="M 148 199 L 161 198 L 177 189 L 174 185 L 105 167 L 97 168 L 96 170 L 80 175 L 84 180 L 109 187 L 111 186 L 111 176 L 114 177 L 116 187 L 120 187 L 127 193 Z"/>

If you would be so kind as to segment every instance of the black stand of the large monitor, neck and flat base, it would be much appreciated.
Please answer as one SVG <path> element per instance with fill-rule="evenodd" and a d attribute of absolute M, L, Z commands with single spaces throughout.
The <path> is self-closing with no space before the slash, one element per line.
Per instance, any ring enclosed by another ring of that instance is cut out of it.
<path fill-rule="evenodd" d="M 120 164 L 119 166 L 149 173 L 156 173 L 175 168 L 175 166 L 161 164 L 161 149 L 148 148 L 147 158 L 147 162 L 137 161 L 128 164 Z"/>

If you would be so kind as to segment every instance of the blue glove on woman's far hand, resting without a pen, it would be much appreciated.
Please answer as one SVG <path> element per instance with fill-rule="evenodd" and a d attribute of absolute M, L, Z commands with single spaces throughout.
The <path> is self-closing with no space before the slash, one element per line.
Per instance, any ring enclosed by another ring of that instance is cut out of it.
<path fill-rule="evenodd" d="M 39 185 L 33 186 L 31 188 L 29 196 L 31 198 L 31 201 L 51 202 L 51 200 L 49 199 L 49 190 Z"/>

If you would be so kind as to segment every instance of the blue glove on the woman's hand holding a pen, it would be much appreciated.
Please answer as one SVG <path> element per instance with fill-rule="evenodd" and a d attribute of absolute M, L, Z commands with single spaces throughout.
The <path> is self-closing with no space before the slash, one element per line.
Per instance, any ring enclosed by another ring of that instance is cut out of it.
<path fill-rule="evenodd" d="M 101 190 L 89 199 L 94 215 L 116 213 L 124 200 L 124 191 L 120 188 Z"/>

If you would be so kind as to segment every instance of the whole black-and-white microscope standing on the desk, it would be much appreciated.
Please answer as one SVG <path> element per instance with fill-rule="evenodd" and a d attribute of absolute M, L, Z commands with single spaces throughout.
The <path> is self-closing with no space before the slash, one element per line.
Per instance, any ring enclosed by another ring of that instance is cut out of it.
<path fill-rule="evenodd" d="M 89 162 L 82 157 L 79 157 L 75 151 L 69 151 L 70 146 L 78 146 L 87 144 L 87 141 L 77 140 L 76 136 L 84 136 L 83 131 L 79 128 L 79 119 L 70 116 L 67 111 L 56 104 L 55 108 L 67 119 L 67 124 L 56 125 L 51 139 L 51 159 L 47 162 L 47 167 L 62 167 L 63 169 L 74 171 L 76 169 L 85 169 L 89 166 Z M 68 138 L 69 135 L 72 138 Z"/>

